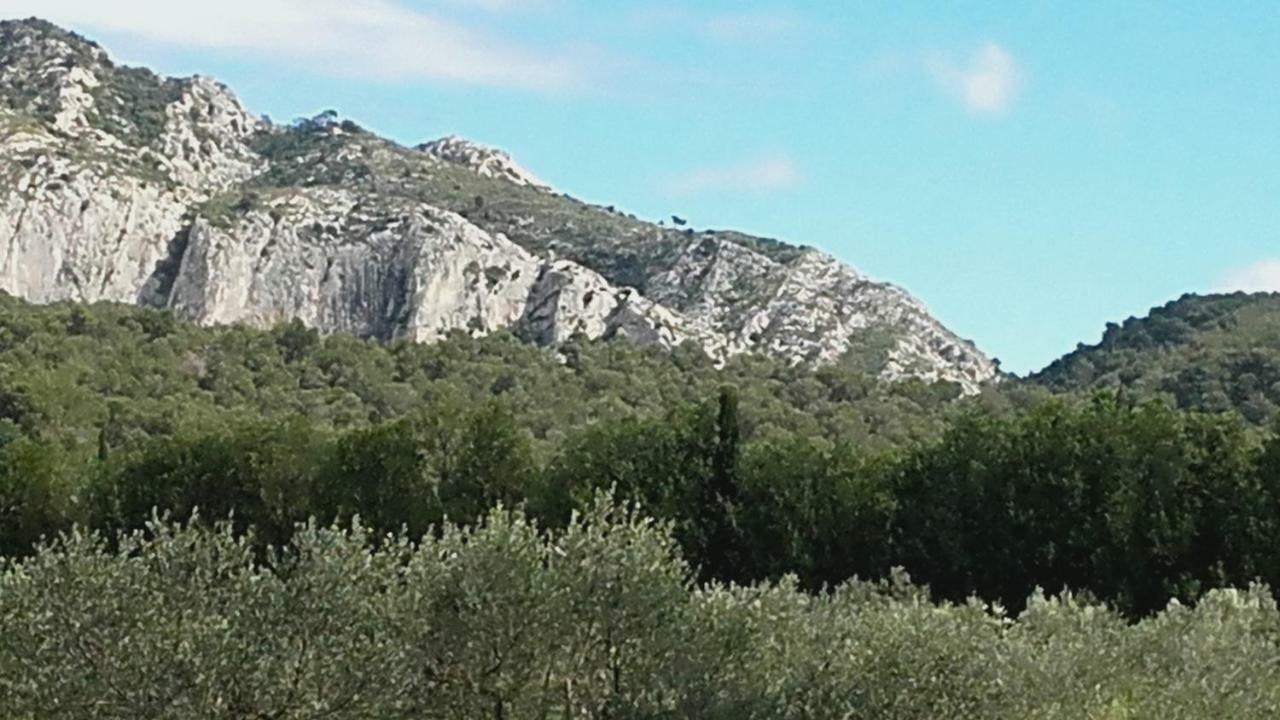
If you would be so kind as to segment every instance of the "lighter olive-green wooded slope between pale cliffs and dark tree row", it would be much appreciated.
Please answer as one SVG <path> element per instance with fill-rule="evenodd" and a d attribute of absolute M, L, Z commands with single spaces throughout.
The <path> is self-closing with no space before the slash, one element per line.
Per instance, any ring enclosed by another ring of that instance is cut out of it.
<path fill-rule="evenodd" d="M 741 388 L 748 436 L 840 437 L 886 447 L 942 427 L 959 388 L 884 383 L 850 365 L 760 356 L 724 368 L 698 348 L 572 341 L 559 352 L 508 333 L 381 345 L 274 329 L 202 328 L 125 305 L 37 306 L 0 293 L 0 442 L 28 437 L 92 459 L 111 447 L 246 419 L 302 416 L 344 430 L 424 404 L 499 398 L 539 452 L 598 419 L 657 416 Z"/>

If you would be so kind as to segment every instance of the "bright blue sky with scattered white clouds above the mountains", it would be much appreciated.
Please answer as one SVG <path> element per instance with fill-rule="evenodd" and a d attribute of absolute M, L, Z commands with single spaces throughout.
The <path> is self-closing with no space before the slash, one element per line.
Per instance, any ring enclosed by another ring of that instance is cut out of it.
<path fill-rule="evenodd" d="M 0 0 L 276 120 L 828 251 L 1006 370 L 1280 291 L 1280 3 Z"/>

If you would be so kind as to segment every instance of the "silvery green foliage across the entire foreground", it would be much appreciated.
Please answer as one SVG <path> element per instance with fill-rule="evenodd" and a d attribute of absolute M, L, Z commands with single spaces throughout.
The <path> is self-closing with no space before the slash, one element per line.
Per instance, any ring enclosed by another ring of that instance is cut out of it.
<path fill-rule="evenodd" d="M 18 719 L 1274 717 L 1280 611 L 1213 591 L 1128 624 L 1034 596 L 1016 620 L 895 575 L 831 593 L 690 582 L 664 527 L 598 501 L 420 543 L 301 528 L 72 533 L 0 574 Z"/>

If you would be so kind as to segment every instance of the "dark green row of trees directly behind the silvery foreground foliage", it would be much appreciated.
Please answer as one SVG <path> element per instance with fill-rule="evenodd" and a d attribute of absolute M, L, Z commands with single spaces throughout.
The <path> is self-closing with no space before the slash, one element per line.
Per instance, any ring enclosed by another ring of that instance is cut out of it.
<path fill-rule="evenodd" d="M 795 574 L 820 589 L 902 566 L 938 597 L 1019 609 L 1036 588 L 1139 616 L 1171 597 L 1280 587 L 1280 439 L 1231 415 L 1052 400 L 974 410 L 937 441 L 886 451 L 744 439 L 736 391 L 667 415 L 600 420 L 539 459 L 500 400 L 426 405 L 338 432 L 253 420 L 101 454 L 73 477 L 52 446 L 0 447 L 0 548 L 73 524 L 142 527 L 154 509 L 232 519 L 264 542 L 297 523 L 408 537 L 493 506 L 562 528 L 598 492 L 672 523 L 701 579 Z"/>

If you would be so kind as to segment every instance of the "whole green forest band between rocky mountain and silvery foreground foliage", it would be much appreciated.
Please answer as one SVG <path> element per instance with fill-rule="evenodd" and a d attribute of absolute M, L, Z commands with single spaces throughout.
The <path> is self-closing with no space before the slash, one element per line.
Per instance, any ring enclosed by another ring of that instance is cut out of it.
<path fill-rule="evenodd" d="M 1280 441 L 1231 413 L 1009 382 L 511 337 L 383 346 L 125 306 L 0 315 L 0 548 L 152 511 L 266 544 L 360 518 L 422 537 L 494 505 L 561 528 L 612 491 L 701 579 L 819 589 L 901 566 L 942 598 L 1037 587 L 1133 615 L 1280 580 Z"/>

